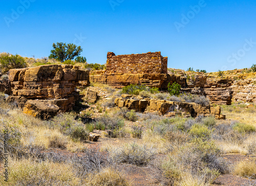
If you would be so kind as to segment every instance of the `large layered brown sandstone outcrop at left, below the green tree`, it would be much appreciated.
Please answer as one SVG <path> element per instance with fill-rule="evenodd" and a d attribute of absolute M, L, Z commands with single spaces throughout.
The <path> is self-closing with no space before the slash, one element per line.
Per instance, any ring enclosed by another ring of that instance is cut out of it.
<path fill-rule="evenodd" d="M 10 69 L 9 79 L 12 96 L 7 101 L 41 119 L 72 109 L 79 98 L 76 87 L 90 84 L 89 71 L 73 65 Z"/>

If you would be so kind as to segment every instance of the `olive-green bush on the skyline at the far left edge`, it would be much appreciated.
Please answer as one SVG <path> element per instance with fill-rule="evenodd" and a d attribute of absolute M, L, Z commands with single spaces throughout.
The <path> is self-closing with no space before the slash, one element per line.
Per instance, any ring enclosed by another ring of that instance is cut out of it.
<path fill-rule="evenodd" d="M 17 54 L 12 55 L 9 53 L 5 53 L 0 56 L 0 64 L 0 68 L 3 73 L 8 72 L 9 69 L 27 67 L 25 59 L 22 56 Z"/>

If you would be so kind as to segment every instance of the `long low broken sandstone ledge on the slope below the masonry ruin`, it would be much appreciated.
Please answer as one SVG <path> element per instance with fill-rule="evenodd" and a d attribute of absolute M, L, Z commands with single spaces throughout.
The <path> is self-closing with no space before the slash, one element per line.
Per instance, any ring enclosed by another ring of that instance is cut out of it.
<path fill-rule="evenodd" d="M 212 116 L 216 119 L 226 118 L 225 115 L 221 114 L 220 106 L 202 106 L 196 103 L 183 103 L 156 99 L 138 99 L 131 95 L 122 95 L 121 98 L 116 98 L 115 105 L 119 108 L 125 107 L 141 112 L 156 112 L 168 117 L 175 115 L 197 117 L 198 115 L 203 115 L 205 117 Z"/>

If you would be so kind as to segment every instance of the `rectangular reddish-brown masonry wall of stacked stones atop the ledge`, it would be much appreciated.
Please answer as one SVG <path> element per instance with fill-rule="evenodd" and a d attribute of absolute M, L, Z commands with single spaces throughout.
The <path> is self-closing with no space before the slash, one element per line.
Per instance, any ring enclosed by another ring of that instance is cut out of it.
<path fill-rule="evenodd" d="M 106 74 L 167 74 L 167 57 L 161 52 L 119 56 L 109 52 Z"/>

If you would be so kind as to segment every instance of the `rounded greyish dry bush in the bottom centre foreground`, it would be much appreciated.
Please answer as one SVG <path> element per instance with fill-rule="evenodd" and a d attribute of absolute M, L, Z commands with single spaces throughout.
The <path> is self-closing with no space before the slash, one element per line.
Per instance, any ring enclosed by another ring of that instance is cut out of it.
<path fill-rule="evenodd" d="M 114 152 L 114 159 L 117 162 L 133 164 L 136 166 L 146 166 L 150 160 L 154 159 L 156 154 L 152 149 L 148 149 L 145 145 L 127 144 Z"/>

